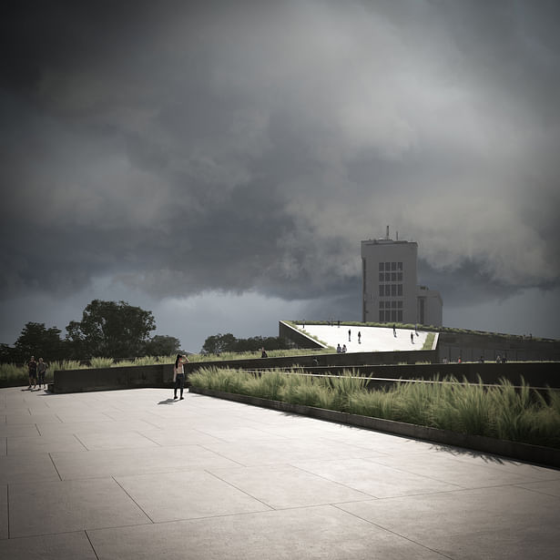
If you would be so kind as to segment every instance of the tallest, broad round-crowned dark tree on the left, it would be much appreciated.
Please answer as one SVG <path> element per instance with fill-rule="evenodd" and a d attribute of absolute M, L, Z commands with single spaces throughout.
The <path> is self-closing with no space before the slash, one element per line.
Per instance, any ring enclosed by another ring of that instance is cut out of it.
<path fill-rule="evenodd" d="M 133 358 L 143 355 L 149 332 L 156 329 L 151 311 L 128 305 L 126 301 L 93 300 L 82 321 L 71 321 L 66 340 L 73 353 L 91 358 Z"/>

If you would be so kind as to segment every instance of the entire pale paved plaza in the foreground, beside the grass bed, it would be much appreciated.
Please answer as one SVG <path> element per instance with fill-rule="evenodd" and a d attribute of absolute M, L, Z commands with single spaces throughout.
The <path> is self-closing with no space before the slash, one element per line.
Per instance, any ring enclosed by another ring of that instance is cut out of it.
<path fill-rule="evenodd" d="M 558 470 L 170 396 L 0 390 L 0 557 L 558 557 Z"/>

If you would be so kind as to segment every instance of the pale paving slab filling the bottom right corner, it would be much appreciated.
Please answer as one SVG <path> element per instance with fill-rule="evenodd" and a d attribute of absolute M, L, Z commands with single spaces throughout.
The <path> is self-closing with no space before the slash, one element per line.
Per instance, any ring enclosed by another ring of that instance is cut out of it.
<path fill-rule="evenodd" d="M 476 488 L 340 507 L 452 558 L 542 560 L 558 555 L 558 498 L 524 488 Z M 535 545 L 533 553 L 521 554 Z"/>

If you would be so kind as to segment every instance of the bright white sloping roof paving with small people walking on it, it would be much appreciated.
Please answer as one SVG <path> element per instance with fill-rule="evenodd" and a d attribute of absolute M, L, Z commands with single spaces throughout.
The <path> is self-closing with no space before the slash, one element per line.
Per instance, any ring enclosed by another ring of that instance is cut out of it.
<path fill-rule="evenodd" d="M 297 328 L 333 348 L 336 348 L 337 344 L 341 346 L 346 344 L 348 352 L 422 350 L 428 336 L 428 332 L 420 329 L 418 331 L 395 329 L 395 336 L 392 327 L 356 327 L 342 323 L 340 327 L 337 323 L 333 323 L 332 325 L 306 324 L 304 328 L 297 325 Z M 358 333 L 361 334 L 360 338 Z"/>

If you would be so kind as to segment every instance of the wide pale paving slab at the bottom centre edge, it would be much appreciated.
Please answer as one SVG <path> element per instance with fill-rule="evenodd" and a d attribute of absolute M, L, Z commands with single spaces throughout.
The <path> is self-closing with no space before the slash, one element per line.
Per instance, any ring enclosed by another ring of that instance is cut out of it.
<path fill-rule="evenodd" d="M 443 560 L 330 505 L 88 532 L 99 560 Z"/>

